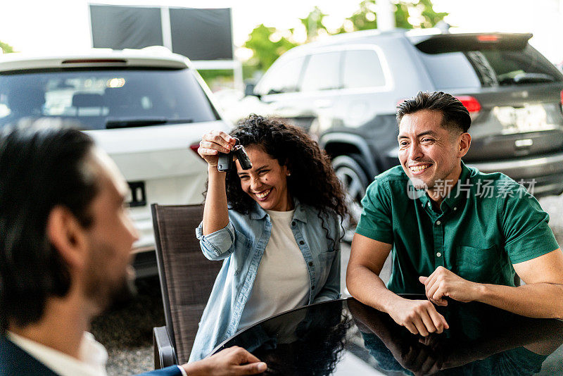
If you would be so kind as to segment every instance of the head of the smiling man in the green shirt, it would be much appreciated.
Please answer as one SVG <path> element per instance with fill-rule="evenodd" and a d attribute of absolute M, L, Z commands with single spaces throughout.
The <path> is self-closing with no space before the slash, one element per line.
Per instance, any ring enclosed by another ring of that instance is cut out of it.
<path fill-rule="evenodd" d="M 419 92 L 398 105 L 399 161 L 415 187 L 456 180 L 469 150 L 471 117 L 450 94 Z"/>

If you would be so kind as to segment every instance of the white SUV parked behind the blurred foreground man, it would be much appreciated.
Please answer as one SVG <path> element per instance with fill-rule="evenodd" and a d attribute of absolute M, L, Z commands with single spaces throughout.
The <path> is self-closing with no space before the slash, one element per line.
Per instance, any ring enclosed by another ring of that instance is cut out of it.
<path fill-rule="evenodd" d="M 150 204 L 203 201 L 198 142 L 212 129 L 230 129 L 216 108 L 189 60 L 162 50 L 0 57 L 0 128 L 39 118 L 80 127 L 125 175 L 141 275 L 154 271 Z"/>

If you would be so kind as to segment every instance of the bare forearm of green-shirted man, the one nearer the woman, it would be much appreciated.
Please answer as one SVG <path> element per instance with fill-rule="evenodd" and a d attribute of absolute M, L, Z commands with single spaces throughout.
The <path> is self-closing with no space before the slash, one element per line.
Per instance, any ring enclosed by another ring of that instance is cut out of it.
<path fill-rule="evenodd" d="M 403 299 L 387 289 L 379 275 L 362 265 L 348 268 L 346 286 L 355 299 L 385 313 L 389 313 L 394 302 Z"/>

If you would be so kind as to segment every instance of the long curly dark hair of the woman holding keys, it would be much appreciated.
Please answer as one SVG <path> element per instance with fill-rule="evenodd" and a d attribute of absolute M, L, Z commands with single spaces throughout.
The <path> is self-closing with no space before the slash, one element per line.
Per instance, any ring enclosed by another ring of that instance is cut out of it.
<path fill-rule="evenodd" d="M 299 202 L 320 214 L 348 216 L 346 194 L 329 156 L 303 130 L 279 119 L 252 114 L 241 120 L 231 135 L 242 146 L 258 146 L 280 165 L 286 165 L 291 171 L 287 188 Z M 227 201 L 229 208 L 239 213 L 248 213 L 255 205 L 251 196 L 243 192 L 236 171 L 227 173 Z"/>

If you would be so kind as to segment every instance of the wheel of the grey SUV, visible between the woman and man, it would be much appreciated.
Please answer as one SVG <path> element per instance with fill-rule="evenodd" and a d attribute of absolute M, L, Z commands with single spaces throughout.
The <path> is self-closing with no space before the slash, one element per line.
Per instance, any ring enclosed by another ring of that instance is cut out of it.
<path fill-rule="evenodd" d="M 360 214 L 362 214 L 362 199 L 367 187 L 367 176 L 362 168 L 362 158 L 358 154 L 337 156 L 332 161 L 332 167 L 346 190 L 346 203 L 350 218 L 343 223 L 344 242 L 352 242 Z"/>

